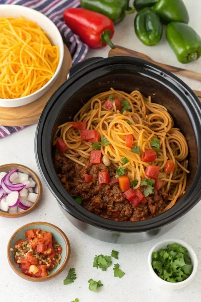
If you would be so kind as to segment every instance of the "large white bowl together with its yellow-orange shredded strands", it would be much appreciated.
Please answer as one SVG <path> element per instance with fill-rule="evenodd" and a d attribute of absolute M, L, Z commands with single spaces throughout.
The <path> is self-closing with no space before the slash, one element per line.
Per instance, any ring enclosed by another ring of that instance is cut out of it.
<path fill-rule="evenodd" d="M 58 77 L 64 58 L 61 34 L 45 15 L 20 5 L 1 5 L 0 30 L 0 106 L 29 104 Z"/>

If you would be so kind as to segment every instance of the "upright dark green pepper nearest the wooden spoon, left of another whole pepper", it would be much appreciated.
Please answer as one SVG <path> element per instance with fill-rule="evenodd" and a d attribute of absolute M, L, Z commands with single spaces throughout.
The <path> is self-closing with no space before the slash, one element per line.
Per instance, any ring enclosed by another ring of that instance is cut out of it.
<path fill-rule="evenodd" d="M 159 16 L 149 7 L 143 8 L 134 21 L 135 32 L 142 43 L 156 45 L 162 37 L 162 24 Z"/>

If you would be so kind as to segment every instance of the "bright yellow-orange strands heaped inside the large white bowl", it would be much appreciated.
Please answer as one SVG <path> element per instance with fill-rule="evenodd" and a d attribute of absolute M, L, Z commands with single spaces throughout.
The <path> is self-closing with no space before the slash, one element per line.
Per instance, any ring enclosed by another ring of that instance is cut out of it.
<path fill-rule="evenodd" d="M 52 46 L 36 22 L 0 18 L 0 98 L 30 95 L 54 75 L 58 46 Z"/>

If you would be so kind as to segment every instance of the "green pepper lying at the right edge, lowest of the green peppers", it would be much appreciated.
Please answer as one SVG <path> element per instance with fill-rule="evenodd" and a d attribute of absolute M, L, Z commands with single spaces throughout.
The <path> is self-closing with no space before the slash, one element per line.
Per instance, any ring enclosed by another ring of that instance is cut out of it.
<path fill-rule="evenodd" d="M 194 29 L 181 22 L 170 22 L 166 38 L 181 63 L 190 63 L 201 56 L 201 38 Z"/>

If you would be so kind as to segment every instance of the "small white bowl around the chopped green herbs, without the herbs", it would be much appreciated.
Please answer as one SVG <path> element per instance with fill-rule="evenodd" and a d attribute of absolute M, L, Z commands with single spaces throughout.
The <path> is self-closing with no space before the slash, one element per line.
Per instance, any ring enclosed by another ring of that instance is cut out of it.
<path fill-rule="evenodd" d="M 193 254 L 193 259 L 192 257 L 190 256 L 191 260 L 193 260 L 193 270 L 190 274 L 190 276 L 183 280 L 183 281 L 180 281 L 180 282 L 168 282 L 168 281 L 165 281 L 163 279 L 161 279 L 154 271 L 154 269 L 152 268 L 152 253 L 157 251 L 161 245 L 164 245 L 164 244 L 171 244 L 171 243 L 179 243 L 180 245 L 184 246 L 185 248 L 187 248 L 188 252 L 191 251 L 191 253 Z M 186 283 L 189 283 L 189 280 L 190 279 L 193 279 L 194 276 L 196 275 L 196 272 L 197 272 L 197 267 L 198 267 L 198 259 L 197 259 L 197 256 L 196 256 L 196 253 L 194 252 L 193 248 L 188 244 L 186 243 L 185 241 L 183 240 L 180 240 L 180 239 L 165 239 L 165 240 L 161 240 L 159 241 L 158 243 L 156 243 L 150 250 L 149 252 L 149 255 L 148 255 L 148 265 L 149 265 L 149 269 L 152 270 L 152 272 L 155 274 L 156 278 L 158 279 L 159 282 L 161 282 L 162 284 L 171 284 L 172 288 L 173 287 L 177 287 L 178 284 L 182 284 L 182 285 L 185 285 Z"/>

